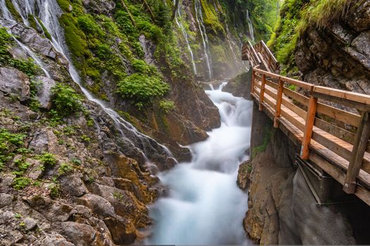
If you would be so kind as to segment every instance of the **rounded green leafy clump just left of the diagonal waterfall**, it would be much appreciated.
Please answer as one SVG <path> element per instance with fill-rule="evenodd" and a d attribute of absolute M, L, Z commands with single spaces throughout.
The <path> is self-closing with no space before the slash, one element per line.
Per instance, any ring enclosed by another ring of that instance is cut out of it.
<path fill-rule="evenodd" d="M 67 117 L 82 110 L 81 96 L 65 84 L 58 83 L 51 89 L 52 104 L 58 115 Z"/>

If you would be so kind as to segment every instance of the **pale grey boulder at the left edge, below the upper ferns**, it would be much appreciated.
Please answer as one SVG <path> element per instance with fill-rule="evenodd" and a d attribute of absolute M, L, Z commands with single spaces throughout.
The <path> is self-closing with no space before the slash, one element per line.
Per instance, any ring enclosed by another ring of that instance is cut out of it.
<path fill-rule="evenodd" d="M 0 67 L 0 91 L 26 101 L 30 99 L 30 79 L 16 68 Z"/>

